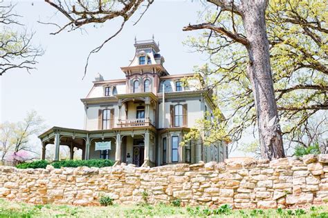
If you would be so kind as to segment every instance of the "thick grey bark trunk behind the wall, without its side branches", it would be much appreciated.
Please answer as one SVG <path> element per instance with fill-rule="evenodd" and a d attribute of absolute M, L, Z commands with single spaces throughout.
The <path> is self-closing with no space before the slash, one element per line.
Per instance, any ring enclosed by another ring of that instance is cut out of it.
<path fill-rule="evenodd" d="M 248 39 L 248 77 L 253 86 L 262 158 L 285 157 L 282 132 L 273 90 L 266 35 L 266 0 L 242 1 L 243 22 Z"/>

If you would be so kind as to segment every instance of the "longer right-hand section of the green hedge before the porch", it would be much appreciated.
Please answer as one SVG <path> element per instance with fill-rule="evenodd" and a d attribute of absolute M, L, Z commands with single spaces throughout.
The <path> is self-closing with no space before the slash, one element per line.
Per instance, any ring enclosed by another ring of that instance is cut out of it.
<path fill-rule="evenodd" d="M 89 166 L 89 167 L 106 167 L 113 166 L 113 161 L 107 159 L 91 159 L 91 160 L 65 160 L 65 161 L 56 161 L 51 164 L 54 168 L 61 167 L 78 167 L 78 166 Z"/>

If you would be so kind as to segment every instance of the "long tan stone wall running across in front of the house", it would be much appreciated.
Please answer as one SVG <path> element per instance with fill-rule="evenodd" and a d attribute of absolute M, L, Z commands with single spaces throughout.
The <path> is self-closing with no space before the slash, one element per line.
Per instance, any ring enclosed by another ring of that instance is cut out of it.
<path fill-rule="evenodd" d="M 116 166 L 21 170 L 0 166 L 0 197 L 33 204 L 98 205 L 101 195 L 119 204 L 181 199 L 184 205 L 230 204 L 277 208 L 328 200 L 328 155 L 302 160 L 226 159 L 224 163 L 156 168 Z M 325 200 L 326 199 L 326 200 Z"/>

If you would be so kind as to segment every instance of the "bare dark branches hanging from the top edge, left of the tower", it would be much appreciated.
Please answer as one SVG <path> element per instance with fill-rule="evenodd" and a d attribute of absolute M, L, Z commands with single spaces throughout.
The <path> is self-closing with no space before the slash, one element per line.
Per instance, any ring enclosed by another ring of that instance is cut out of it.
<path fill-rule="evenodd" d="M 91 54 L 99 52 L 99 50 L 107 43 L 109 40 L 116 37 L 125 26 L 125 23 L 138 11 L 139 8 L 145 8 L 137 21 L 134 22 L 134 25 L 143 17 L 143 14 L 147 11 L 149 6 L 154 2 L 154 0 L 126 0 L 126 1 L 84 1 L 84 0 L 75 0 L 75 1 L 60 1 L 60 0 L 45 0 L 46 3 L 56 8 L 61 12 L 69 21 L 64 24 L 64 26 L 58 26 L 56 23 L 46 23 L 53 24 L 59 29 L 56 32 L 51 34 L 57 34 L 62 32 L 62 30 L 73 31 L 85 26 L 87 24 L 97 24 L 104 23 L 106 21 L 114 19 L 122 19 L 120 28 L 111 35 L 109 38 L 105 39 L 100 46 L 94 48 L 89 52 L 88 57 L 86 58 L 86 64 L 84 67 L 84 76 L 86 74 L 86 69 L 89 64 L 89 58 Z M 44 22 L 40 22 L 44 23 Z"/>

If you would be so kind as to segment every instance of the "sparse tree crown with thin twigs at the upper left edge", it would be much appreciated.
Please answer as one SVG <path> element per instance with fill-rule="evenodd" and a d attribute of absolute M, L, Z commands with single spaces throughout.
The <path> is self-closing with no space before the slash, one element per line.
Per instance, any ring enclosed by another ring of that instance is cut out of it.
<path fill-rule="evenodd" d="M 0 1 L 0 76 L 9 70 L 21 68 L 29 72 L 35 69 L 36 58 L 44 53 L 32 45 L 33 33 L 15 30 L 15 26 L 23 25 L 17 21 L 20 16 L 14 8 L 14 5 Z"/>

